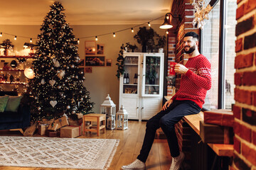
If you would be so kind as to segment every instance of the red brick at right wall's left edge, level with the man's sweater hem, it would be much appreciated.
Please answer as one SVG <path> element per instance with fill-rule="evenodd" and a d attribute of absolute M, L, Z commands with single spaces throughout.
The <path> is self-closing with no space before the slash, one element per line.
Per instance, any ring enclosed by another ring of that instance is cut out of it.
<path fill-rule="evenodd" d="M 240 103 L 252 104 L 252 93 L 251 91 L 240 90 L 235 88 L 235 101 Z"/>

